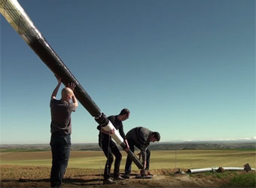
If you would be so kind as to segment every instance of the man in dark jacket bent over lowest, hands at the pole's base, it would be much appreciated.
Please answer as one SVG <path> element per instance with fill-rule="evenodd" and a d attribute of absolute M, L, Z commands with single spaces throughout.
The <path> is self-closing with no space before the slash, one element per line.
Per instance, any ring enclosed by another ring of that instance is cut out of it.
<path fill-rule="evenodd" d="M 141 150 L 142 155 L 142 165 L 144 166 L 142 171 L 147 171 L 149 168 L 150 160 L 150 150 L 148 146 L 150 142 L 160 141 L 160 134 L 158 132 L 152 132 L 151 130 L 139 126 L 134 129 L 131 129 L 130 132 L 126 134 L 126 140 L 130 146 L 130 150 L 134 152 L 134 146 L 138 147 Z M 132 168 L 132 159 L 127 157 L 125 165 L 125 174 L 124 178 L 129 179 L 131 168 Z"/>

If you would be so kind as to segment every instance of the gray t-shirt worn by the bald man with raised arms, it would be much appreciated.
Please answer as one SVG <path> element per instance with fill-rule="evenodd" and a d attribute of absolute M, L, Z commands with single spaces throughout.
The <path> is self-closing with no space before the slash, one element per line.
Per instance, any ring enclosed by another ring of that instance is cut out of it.
<path fill-rule="evenodd" d="M 74 103 L 51 99 L 50 100 L 50 132 L 72 133 L 71 114 L 75 111 Z"/>

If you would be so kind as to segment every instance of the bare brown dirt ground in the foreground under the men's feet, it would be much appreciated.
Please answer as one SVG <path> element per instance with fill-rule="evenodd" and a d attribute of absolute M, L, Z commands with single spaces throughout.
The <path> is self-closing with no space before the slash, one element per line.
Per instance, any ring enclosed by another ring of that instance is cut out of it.
<path fill-rule="evenodd" d="M 220 187 L 232 176 L 228 174 L 225 176 L 227 178 L 222 178 L 218 177 L 216 172 L 214 174 L 174 174 L 174 172 L 175 169 L 152 170 L 151 173 L 154 176 L 151 179 L 138 179 L 137 174 L 133 173 L 129 180 L 119 180 L 116 184 L 103 185 L 102 173 L 97 170 L 68 168 L 62 187 Z M 49 174 L 50 168 L 46 167 L 2 165 L 1 187 L 49 187 Z"/>

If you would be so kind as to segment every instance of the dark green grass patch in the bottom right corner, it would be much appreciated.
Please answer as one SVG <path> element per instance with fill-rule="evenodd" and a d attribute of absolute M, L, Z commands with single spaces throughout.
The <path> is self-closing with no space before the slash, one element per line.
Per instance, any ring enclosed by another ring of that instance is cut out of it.
<path fill-rule="evenodd" d="M 239 174 L 221 187 L 256 187 L 255 174 Z"/>

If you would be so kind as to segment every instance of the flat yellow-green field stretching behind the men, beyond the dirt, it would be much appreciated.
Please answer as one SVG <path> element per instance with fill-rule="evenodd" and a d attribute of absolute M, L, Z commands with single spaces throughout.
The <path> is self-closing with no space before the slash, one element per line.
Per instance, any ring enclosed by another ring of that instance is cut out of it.
<path fill-rule="evenodd" d="M 120 169 L 126 161 L 126 153 L 122 153 Z M 51 165 L 50 151 L 2 150 L 0 156 L 1 165 Z M 177 150 L 176 155 L 175 150 L 151 151 L 151 169 L 243 167 L 246 163 L 255 168 L 255 160 L 255 150 Z M 105 167 L 105 161 L 102 151 L 72 151 L 69 168 L 101 169 Z"/>

